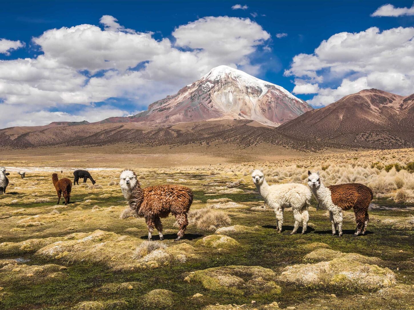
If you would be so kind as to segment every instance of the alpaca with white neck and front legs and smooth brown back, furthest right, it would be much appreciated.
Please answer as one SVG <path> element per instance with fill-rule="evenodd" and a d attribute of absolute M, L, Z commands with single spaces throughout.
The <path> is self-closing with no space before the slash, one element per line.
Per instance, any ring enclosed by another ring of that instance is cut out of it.
<path fill-rule="evenodd" d="M 368 226 L 368 206 L 373 199 L 371 188 L 359 184 L 348 183 L 325 187 L 320 181 L 319 173 L 308 172 L 308 185 L 318 202 L 329 210 L 332 223 L 332 235 L 338 230 L 342 236 L 342 210 L 354 208 L 356 229 L 354 236 L 365 234 Z"/>

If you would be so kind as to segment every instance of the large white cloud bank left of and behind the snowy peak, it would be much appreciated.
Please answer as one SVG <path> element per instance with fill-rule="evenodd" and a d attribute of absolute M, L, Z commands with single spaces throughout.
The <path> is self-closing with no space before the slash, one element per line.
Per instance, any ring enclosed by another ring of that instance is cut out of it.
<path fill-rule="evenodd" d="M 122 107 L 94 103 L 128 98 L 142 107 L 221 64 L 256 72 L 250 57 L 270 38 L 254 21 L 227 16 L 178 26 L 172 33 L 175 43 L 126 29 L 110 15 L 99 22 L 102 28 L 81 24 L 47 30 L 33 38 L 43 54 L 0 61 L 0 109 L 8 111 L 0 127 L 128 115 Z M 7 42 L 0 52 L 23 44 Z M 71 110 L 81 112 L 66 112 Z"/>

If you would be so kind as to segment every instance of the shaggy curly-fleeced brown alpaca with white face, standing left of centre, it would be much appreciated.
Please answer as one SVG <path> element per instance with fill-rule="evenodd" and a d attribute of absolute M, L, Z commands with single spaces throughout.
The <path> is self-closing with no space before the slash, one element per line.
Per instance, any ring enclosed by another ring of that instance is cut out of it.
<path fill-rule="evenodd" d="M 152 238 L 154 227 L 158 230 L 159 238 L 162 235 L 161 219 L 171 213 L 176 217 L 180 230 L 175 241 L 184 236 L 188 225 L 187 213 L 193 203 L 193 192 L 190 188 L 180 185 L 156 185 L 141 188 L 137 176 L 131 170 L 124 170 L 119 182 L 122 193 L 130 208 L 138 216 L 143 216 L 148 226 L 148 240 Z"/>

